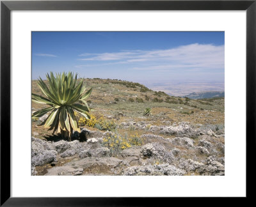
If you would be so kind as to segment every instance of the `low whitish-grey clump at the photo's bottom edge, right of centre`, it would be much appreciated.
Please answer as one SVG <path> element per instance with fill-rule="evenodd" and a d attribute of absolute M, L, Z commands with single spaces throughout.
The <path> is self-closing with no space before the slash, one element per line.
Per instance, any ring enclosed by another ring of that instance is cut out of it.
<path fill-rule="evenodd" d="M 160 165 L 143 165 L 128 167 L 124 171 L 124 175 L 168 175 L 168 176 L 182 176 L 186 171 L 178 169 L 177 167 L 169 164 Z"/>

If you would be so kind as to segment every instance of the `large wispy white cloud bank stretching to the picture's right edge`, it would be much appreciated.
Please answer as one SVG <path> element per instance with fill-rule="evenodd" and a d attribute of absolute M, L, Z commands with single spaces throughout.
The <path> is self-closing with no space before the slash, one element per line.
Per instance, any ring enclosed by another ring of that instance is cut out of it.
<path fill-rule="evenodd" d="M 133 70 L 224 69 L 224 45 L 191 44 L 165 50 L 122 50 L 99 54 L 84 53 L 81 61 L 100 65 L 138 64 Z M 84 65 L 88 66 L 88 65 Z M 90 65 L 95 66 L 95 65 Z"/>

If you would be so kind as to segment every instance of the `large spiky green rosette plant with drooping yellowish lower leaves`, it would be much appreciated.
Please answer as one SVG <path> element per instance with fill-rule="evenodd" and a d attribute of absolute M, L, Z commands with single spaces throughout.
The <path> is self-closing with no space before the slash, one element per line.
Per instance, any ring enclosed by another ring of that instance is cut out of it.
<path fill-rule="evenodd" d="M 39 77 L 37 84 L 44 96 L 32 93 L 32 101 L 38 104 L 46 104 L 49 107 L 41 109 L 32 114 L 32 117 L 41 117 L 49 113 L 49 116 L 42 123 L 45 128 L 57 131 L 64 139 L 71 141 L 73 131 L 81 132 L 74 112 L 78 112 L 86 119 L 90 119 L 90 109 L 86 103 L 86 98 L 92 93 L 92 88 L 86 91 L 83 79 L 77 81 L 77 74 L 58 73 L 54 77 L 51 72 L 47 73 L 49 87 Z"/>

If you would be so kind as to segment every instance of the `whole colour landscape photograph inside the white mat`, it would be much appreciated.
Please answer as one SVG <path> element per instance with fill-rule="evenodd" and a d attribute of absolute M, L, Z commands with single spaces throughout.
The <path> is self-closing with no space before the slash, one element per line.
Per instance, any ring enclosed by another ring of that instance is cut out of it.
<path fill-rule="evenodd" d="M 225 31 L 31 31 L 31 176 L 225 176 Z"/>

